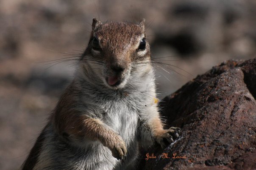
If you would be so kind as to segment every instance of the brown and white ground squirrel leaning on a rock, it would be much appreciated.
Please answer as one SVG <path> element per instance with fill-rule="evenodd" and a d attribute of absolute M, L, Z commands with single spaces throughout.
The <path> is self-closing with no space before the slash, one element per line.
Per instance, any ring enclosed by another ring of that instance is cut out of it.
<path fill-rule="evenodd" d="M 23 170 L 134 169 L 139 146 L 178 137 L 159 116 L 145 19 L 93 19 L 88 47 Z"/>

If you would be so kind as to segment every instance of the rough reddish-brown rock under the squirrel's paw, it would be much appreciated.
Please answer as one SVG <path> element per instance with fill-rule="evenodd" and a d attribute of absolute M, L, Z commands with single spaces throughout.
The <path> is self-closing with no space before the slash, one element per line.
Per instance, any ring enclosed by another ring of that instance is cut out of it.
<path fill-rule="evenodd" d="M 167 125 L 182 133 L 142 154 L 141 169 L 256 169 L 255 99 L 256 59 L 225 61 L 196 77 L 160 103 Z M 157 159 L 146 161 L 146 153 Z M 186 158 L 173 159 L 174 153 Z"/>

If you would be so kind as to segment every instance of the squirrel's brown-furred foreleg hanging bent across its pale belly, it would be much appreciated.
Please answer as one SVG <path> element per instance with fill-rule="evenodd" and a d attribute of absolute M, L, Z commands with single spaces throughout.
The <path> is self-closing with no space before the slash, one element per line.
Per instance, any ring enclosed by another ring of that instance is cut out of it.
<path fill-rule="evenodd" d="M 100 141 L 108 147 L 115 157 L 122 157 L 126 154 L 125 142 L 117 133 L 104 126 L 98 118 L 89 118 L 84 114 L 79 114 L 74 105 L 77 97 L 74 96 L 77 90 L 70 86 L 61 97 L 60 102 L 53 114 L 54 124 L 59 134 L 82 141 L 89 139 Z M 73 105 L 73 107 L 72 107 Z"/>

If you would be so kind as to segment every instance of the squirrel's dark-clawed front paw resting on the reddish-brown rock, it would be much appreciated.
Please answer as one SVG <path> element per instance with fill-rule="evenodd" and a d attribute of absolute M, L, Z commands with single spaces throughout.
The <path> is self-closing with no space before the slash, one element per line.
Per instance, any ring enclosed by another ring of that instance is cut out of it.
<path fill-rule="evenodd" d="M 161 145 L 161 148 L 165 148 L 169 143 L 173 143 L 175 139 L 179 137 L 181 128 L 170 127 L 170 129 L 162 129 L 156 134 L 155 140 Z"/>

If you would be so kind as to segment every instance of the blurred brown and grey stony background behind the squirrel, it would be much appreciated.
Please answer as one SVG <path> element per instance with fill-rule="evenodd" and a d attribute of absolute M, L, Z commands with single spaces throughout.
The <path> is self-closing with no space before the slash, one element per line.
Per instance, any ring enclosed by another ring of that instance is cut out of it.
<path fill-rule="evenodd" d="M 72 80 L 74 61 L 58 59 L 86 48 L 92 18 L 146 19 L 161 99 L 224 60 L 255 58 L 255 9 L 255 0 L 0 0 L 0 169 L 25 160 Z"/>

